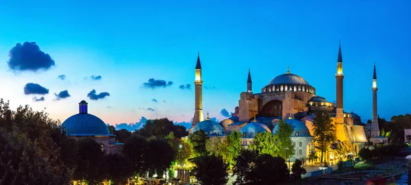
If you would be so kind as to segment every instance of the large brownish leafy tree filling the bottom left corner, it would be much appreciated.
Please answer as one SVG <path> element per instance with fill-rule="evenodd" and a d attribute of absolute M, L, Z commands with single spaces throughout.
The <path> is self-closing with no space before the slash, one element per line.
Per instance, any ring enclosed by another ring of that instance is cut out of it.
<path fill-rule="evenodd" d="M 59 152 L 66 136 L 58 124 L 29 106 L 10 110 L 0 99 L 0 184 L 69 184 L 72 169 Z"/>

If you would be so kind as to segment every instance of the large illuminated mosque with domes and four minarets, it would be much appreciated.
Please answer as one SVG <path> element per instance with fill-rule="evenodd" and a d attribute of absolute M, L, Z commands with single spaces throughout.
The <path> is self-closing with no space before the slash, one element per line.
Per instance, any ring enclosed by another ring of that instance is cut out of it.
<path fill-rule="evenodd" d="M 203 121 L 201 62 L 197 56 L 195 68 L 195 114 L 189 132 L 203 130 L 209 136 L 224 136 L 234 131 L 242 134 L 242 145 L 247 147 L 259 132 L 277 131 L 277 123 L 284 120 L 294 127 L 291 140 L 295 143 L 295 158 L 308 158 L 310 152 L 318 152 L 314 147 L 312 122 L 314 113 L 328 112 L 332 124 L 336 125 L 336 136 L 340 142 L 349 140 L 360 151 L 368 141 L 382 143 L 386 138 L 378 138 L 377 123 L 377 79 L 374 65 L 373 75 L 373 123 L 364 125 L 361 117 L 354 112 L 343 109 L 343 56 L 338 47 L 336 77 L 336 103 L 327 101 L 325 97 L 316 95 L 316 88 L 308 84 L 303 77 L 292 74 L 290 69 L 282 75 L 271 79 L 269 84 L 261 88 L 260 93 L 253 93 L 251 73 L 248 71 L 247 89 L 240 93 L 238 107 L 232 117 L 216 123 L 206 119 Z M 367 133 L 367 134 L 366 134 Z"/>

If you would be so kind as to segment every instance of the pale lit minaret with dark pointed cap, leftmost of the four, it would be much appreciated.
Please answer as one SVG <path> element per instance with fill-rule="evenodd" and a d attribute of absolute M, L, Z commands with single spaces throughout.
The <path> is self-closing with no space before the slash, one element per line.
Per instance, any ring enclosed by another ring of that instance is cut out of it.
<path fill-rule="evenodd" d="M 204 121 L 203 117 L 203 80 L 201 80 L 200 53 L 197 54 L 197 64 L 195 65 L 195 112 L 192 118 L 191 130 L 197 123 Z"/>

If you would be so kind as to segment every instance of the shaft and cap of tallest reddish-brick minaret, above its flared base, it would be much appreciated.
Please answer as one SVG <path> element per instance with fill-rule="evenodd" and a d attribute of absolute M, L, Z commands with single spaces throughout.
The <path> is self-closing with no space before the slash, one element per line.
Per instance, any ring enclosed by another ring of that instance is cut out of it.
<path fill-rule="evenodd" d="M 337 110 L 336 110 L 336 123 L 344 123 L 344 110 L 343 110 L 343 56 L 341 56 L 341 45 L 338 45 L 338 59 L 337 59 Z"/>

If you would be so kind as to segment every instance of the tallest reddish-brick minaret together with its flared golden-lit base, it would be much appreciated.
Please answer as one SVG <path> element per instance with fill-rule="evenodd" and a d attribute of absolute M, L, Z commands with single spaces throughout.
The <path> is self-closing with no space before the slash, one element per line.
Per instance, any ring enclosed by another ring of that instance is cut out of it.
<path fill-rule="evenodd" d="M 344 109 L 343 109 L 343 56 L 341 55 L 341 45 L 338 45 L 338 59 L 337 59 L 337 73 L 336 73 L 336 94 L 337 94 L 337 108 L 336 108 L 336 136 L 340 141 L 348 140 L 345 133 L 344 124 Z"/>

